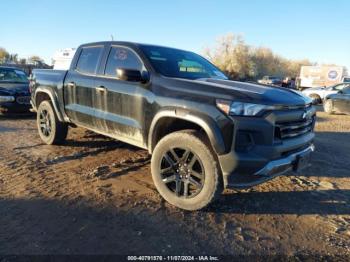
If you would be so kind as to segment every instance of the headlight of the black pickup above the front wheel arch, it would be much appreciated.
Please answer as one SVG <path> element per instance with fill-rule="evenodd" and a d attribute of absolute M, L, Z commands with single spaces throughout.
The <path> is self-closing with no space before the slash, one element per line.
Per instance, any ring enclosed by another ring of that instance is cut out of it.
<path fill-rule="evenodd" d="M 230 102 L 227 100 L 216 100 L 216 105 L 226 114 L 233 116 L 256 116 L 262 111 L 275 109 L 274 106 L 269 105 Z"/>

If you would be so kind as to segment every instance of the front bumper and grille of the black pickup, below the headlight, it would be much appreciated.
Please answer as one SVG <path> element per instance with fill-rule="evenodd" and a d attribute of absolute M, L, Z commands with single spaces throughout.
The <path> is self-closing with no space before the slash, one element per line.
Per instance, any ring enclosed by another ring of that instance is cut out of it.
<path fill-rule="evenodd" d="M 305 110 L 272 112 L 261 118 L 233 119 L 235 131 L 229 153 L 219 155 L 228 188 L 248 188 L 289 171 L 297 171 L 300 158 L 314 151 L 315 110 L 308 109 L 311 120 L 294 124 Z"/>

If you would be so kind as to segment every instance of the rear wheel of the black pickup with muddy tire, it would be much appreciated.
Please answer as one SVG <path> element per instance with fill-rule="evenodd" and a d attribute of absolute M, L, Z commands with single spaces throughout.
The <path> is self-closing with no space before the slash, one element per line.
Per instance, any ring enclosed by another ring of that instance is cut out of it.
<path fill-rule="evenodd" d="M 40 103 L 36 120 L 40 138 L 44 143 L 48 145 L 64 143 L 68 133 L 68 125 L 58 120 L 50 101 Z"/>

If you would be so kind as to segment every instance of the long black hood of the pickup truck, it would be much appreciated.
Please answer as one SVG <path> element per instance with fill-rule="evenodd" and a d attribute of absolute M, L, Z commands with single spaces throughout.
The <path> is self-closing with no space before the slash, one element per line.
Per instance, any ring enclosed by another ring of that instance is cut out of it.
<path fill-rule="evenodd" d="M 172 78 L 170 83 L 170 87 L 174 86 L 176 89 L 181 87 L 182 91 L 188 93 L 210 96 L 212 98 L 230 99 L 232 101 L 284 106 L 304 106 L 312 102 L 310 98 L 291 89 L 246 82 L 213 78 L 198 80 Z"/>

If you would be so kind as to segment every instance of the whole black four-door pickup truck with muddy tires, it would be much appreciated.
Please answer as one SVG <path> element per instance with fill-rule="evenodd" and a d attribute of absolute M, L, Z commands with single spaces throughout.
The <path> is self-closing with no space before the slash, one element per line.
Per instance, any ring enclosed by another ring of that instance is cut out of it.
<path fill-rule="evenodd" d="M 229 188 L 301 170 L 314 150 L 315 109 L 299 93 L 229 81 L 188 51 L 129 42 L 78 48 L 68 71 L 34 70 L 41 139 L 68 127 L 144 148 L 159 193 L 187 210 Z"/>

